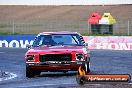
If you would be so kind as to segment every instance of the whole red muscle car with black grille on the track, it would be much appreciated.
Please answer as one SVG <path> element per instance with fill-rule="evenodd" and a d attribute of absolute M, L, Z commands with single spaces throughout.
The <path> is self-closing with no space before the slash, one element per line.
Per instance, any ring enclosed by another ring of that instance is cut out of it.
<path fill-rule="evenodd" d="M 26 77 L 43 71 L 77 71 L 79 66 L 90 72 L 88 44 L 77 32 L 43 32 L 27 47 Z"/>

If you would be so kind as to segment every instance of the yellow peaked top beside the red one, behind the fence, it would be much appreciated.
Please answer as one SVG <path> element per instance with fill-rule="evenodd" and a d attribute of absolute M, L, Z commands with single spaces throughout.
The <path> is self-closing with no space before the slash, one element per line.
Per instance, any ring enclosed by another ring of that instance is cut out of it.
<path fill-rule="evenodd" d="M 104 13 L 102 18 L 99 20 L 99 24 L 115 24 L 116 20 L 110 13 Z"/>

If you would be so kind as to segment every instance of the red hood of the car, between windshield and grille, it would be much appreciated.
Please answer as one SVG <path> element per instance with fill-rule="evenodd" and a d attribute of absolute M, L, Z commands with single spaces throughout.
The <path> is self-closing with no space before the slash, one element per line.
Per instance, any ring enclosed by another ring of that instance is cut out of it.
<path fill-rule="evenodd" d="M 84 46 L 43 46 L 43 47 L 33 47 L 28 50 L 27 53 L 55 53 L 55 52 L 78 52 L 86 53 L 86 48 Z"/>

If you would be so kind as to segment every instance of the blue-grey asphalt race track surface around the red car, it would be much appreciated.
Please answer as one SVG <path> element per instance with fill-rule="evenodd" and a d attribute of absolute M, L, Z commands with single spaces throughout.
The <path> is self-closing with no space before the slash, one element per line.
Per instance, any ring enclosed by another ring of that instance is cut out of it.
<path fill-rule="evenodd" d="M 39 77 L 25 77 L 25 52 L 27 49 L 0 48 L 0 71 L 14 74 L 9 80 L 0 81 L 0 88 L 132 88 L 132 84 L 76 83 L 76 72 L 43 72 Z M 91 73 L 132 75 L 132 51 L 91 50 Z"/>

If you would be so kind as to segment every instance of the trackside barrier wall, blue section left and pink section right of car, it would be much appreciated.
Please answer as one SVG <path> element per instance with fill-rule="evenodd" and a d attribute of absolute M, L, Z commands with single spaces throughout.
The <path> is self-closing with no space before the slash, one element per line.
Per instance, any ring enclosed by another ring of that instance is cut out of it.
<path fill-rule="evenodd" d="M 0 35 L 0 47 L 26 48 L 36 35 Z M 83 36 L 89 49 L 132 50 L 132 36 Z"/>

